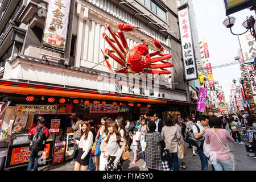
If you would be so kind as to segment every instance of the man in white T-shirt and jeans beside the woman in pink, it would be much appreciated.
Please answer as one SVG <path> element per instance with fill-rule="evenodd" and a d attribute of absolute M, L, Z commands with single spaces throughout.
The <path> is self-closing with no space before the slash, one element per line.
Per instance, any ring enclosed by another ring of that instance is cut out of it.
<path fill-rule="evenodd" d="M 200 122 L 197 122 L 196 125 L 199 127 L 199 130 L 195 125 L 193 125 L 192 130 L 196 139 L 205 137 L 205 130 L 209 129 L 209 117 L 207 115 L 202 115 Z M 201 170 L 208 170 L 207 157 L 204 155 L 203 148 L 197 148 L 197 153 L 199 154 L 201 160 Z"/>

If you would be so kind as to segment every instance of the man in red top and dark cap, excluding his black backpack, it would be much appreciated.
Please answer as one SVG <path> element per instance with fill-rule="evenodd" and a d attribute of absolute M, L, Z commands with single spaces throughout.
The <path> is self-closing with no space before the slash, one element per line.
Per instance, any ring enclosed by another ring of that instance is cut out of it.
<path fill-rule="evenodd" d="M 44 139 L 45 141 L 49 138 L 49 130 L 44 124 L 46 123 L 46 120 L 44 118 L 38 119 L 38 126 L 31 129 L 30 134 L 28 135 L 28 139 L 33 140 L 35 137 L 35 134 L 39 131 L 43 131 Z M 34 165 L 34 171 L 38 171 L 38 159 L 41 158 L 44 150 L 44 145 L 42 144 L 41 151 L 31 151 L 30 154 L 30 162 L 28 163 L 27 171 L 31 171 L 33 163 L 35 161 Z M 36 160 L 35 160 L 36 159 Z"/>

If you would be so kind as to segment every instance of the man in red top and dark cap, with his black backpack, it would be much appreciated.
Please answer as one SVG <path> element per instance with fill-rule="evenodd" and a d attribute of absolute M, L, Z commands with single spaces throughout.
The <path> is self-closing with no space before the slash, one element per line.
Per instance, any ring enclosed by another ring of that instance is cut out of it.
<path fill-rule="evenodd" d="M 28 163 L 27 171 L 32 170 L 33 163 L 34 171 L 38 171 L 38 159 L 41 158 L 44 148 L 46 147 L 46 140 L 49 138 L 49 130 L 44 124 L 44 118 L 38 118 L 38 126 L 31 129 L 28 139 L 32 140 L 30 143 L 30 162 Z M 36 159 L 36 160 L 35 160 Z"/>

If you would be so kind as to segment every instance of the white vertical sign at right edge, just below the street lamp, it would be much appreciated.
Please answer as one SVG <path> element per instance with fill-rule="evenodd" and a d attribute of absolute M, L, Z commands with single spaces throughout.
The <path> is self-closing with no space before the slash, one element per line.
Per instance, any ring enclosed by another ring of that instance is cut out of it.
<path fill-rule="evenodd" d="M 251 63 L 256 57 L 256 41 L 250 32 L 238 36 L 245 63 Z"/>

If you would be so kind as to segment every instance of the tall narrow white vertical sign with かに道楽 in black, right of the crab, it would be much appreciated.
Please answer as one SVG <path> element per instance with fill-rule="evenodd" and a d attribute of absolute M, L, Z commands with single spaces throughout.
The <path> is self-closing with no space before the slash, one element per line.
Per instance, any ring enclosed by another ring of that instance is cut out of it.
<path fill-rule="evenodd" d="M 179 26 L 186 80 L 198 78 L 188 8 L 179 11 Z"/>

